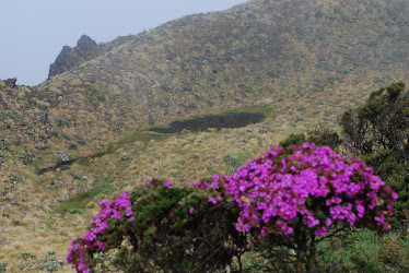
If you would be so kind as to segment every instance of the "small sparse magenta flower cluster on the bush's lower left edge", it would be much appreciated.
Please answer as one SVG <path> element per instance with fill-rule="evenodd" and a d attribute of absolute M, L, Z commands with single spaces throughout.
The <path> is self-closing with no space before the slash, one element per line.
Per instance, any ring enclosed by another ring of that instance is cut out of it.
<path fill-rule="evenodd" d="M 109 219 L 122 219 L 132 222 L 131 201 L 128 192 L 122 192 L 114 201 L 101 201 L 101 211 L 91 218 L 91 232 L 84 237 L 73 239 L 71 248 L 68 250 L 67 262 L 72 263 L 77 272 L 87 273 L 90 270 L 90 261 L 86 262 L 86 252 L 95 252 L 105 250 L 103 241 L 98 240 L 98 236 L 104 234 L 108 228 Z"/>

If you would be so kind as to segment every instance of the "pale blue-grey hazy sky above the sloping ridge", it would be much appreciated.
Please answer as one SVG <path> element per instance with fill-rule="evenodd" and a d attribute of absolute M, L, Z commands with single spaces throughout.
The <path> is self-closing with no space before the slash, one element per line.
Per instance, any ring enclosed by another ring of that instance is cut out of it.
<path fill-rule="evenodd" d="M 82 34 L 96 43 L 138 34 L 187 14 L 246 0 L 0 0 L 0 79 L 36 85 L 63 46 Z"/>

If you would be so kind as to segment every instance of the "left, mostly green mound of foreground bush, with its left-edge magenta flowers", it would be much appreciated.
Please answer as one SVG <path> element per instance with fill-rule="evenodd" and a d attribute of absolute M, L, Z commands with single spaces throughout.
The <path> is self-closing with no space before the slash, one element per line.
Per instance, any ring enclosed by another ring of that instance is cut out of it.
<path fill-rule="evenodd" d="M 221 269 L 246 240 L 234 226 L 238 210 L 209 202 L 212 195 L 220 199 L 217 189 L 150 179 L 130 195 L 102 201 L 90 233 L 71 242 L 67 260 L 78 272 Z"/>

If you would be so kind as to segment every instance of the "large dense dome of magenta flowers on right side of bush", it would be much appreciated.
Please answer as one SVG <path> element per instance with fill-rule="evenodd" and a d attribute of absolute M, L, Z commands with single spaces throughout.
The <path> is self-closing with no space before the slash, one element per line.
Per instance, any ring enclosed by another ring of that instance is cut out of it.
<path fill-rule="evenodd" d="M 353 225 L 365 214 L 388 229 L 397 194 L 372 168 L 327 146 L 291 149 L 285 156 L 284 149 L 272 146 L 234 175 L 213 178 L 239 205 L 238 230 L 290 235 L 302 222 L 325 236 L 332 223 Z"/>

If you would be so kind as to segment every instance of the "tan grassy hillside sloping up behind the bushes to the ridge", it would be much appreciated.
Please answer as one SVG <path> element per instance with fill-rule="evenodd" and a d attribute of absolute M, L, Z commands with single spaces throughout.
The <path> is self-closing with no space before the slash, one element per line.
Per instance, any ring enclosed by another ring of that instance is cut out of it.
<path fill-rule="evenodd" d="M 28 264 L 23 251 L 37 264 L 50 250 L 63 258 L 103 198 L 151 176 L 231 171 L 290 132 L 332 124 L 377 86 L 407 81 L 407 14 L 402 0 L 253 0 L 98 45 L 37 86 L 0 81 L 0 262 Z M 266 119 L 145 131 L 241 111 Z M 61 162 L 59 151 L 78 161 L 38 175 Z"/>

